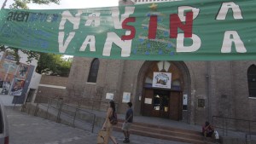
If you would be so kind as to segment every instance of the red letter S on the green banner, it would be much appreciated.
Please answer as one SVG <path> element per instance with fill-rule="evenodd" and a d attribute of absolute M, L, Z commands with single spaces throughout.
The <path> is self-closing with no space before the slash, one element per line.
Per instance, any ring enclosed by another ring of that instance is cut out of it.
<path fill-rule="evenodd" d="M 132 38 L 135 37 L 135 33 L 136 33 L 136 29 L 134 26 L 128 26 L 127 23 L 128 22 L 135 22 L 135 17 L 131 17 L 131 18 L 127 18 L 123 21 L 122 23 L 122 28 L 123 29 L 126 29 L 126 30 L 130 30 L 131 31 L 131 34 L 126 36 L 122 36 L 121 39 L 124 41 L 124 40 L 131 40 Z"/>

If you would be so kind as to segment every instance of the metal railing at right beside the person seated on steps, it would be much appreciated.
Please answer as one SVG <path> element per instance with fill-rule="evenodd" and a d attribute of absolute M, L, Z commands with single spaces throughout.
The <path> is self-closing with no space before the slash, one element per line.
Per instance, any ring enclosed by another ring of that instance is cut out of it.
<path fill-rule="evenodd" d="M 246 141 L 247 135 L 256 135 L 256 121 L 241 119 L 241 118 L 225 118 L 220 116 L 212 116 L 212 124 L 214 127 L 222 130 L 223 135 L 228 135 L 229 130 L 239 130 L 245 132 Z"/>

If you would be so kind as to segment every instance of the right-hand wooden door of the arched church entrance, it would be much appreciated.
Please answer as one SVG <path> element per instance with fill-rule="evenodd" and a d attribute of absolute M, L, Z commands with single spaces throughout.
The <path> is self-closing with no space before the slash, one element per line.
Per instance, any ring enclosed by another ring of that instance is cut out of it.
<path fill-rule="evenodd" d="M 182 92 L 171 91 L 170 94 L 170 119 L 180 120 L 182 119 Z"/>

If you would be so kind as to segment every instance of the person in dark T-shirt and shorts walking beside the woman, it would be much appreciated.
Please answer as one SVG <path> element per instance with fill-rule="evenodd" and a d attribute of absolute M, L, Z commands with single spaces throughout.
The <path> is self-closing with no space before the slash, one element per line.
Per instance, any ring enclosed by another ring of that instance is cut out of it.
<path fill-rule="evenodd" d="M 130 128 L 131 128 L 131 124 L 133 122 L 133 110 L 132 110 L 132 103 L 128 102 L 127 103 L 127 111 L 125 113 L 125 122 L 122 126 L 122 130 L 124 132 L 125 135 L 125 140 L 123 141 L 124 143 L 129 143 L 130 142 Z"/>

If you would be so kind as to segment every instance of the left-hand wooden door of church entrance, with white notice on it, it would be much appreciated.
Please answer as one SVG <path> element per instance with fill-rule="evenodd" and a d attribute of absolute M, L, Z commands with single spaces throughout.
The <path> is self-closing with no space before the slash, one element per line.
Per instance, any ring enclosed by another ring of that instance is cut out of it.
<path fill-rule="evenodd" d="M 148 101 L 153 102 L 153 95 L 154 95 L 154 89 L 144 89 L 143 92 L 143 98 L 142 98 L 142 115 L 143 116 L 151 116 L 152 110 L 153 110 L 153 105 L 152 103 L 145 103 L 145 99 L 148 99 Z M 147 100 L 146 100 L 147 101 Z"/>

